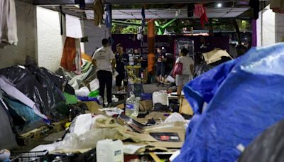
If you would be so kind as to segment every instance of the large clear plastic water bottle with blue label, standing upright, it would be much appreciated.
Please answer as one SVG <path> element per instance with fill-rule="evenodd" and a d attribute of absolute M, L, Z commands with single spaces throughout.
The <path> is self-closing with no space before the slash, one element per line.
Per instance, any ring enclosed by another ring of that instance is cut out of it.
<path fill-rule="evenodd" d="M 138 115 L 136 98 L 133 92 L 130 92 L 130 97 L 126 99 L 125 114 L 131 118 L 136 118 Z"/>

